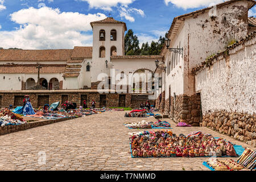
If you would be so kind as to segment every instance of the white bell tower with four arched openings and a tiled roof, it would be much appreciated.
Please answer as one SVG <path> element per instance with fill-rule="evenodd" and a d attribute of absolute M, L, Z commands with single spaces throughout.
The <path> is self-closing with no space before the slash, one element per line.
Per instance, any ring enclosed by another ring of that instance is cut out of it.
<path fill-rule="evenodd" d="M 92 89 L 96 89 L 93 83 L 98 82 L 97 77 L 100 73 L 106 73 L 110 77 L 110 56 L 125 55 L 127 28 L 124 22 L 112 17 L 90 24 L 93 28 Z"/>

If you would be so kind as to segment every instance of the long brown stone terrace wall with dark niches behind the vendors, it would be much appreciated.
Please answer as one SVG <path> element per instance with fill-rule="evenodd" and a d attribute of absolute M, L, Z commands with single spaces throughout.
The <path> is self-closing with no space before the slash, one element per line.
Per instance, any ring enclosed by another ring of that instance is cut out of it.
<path fill-rule="evenodd" d="M 49 96 L 49 103 L 45 104 L 52 104 L 53 102 L 60 102 L 62 100 L 63 95 L 68 96 L 68 101 L 71 102 L 76 102 L 77 106 L 80 106 L 81 104 L 81 95 L 86 95 L 87 96 L 87 104 L 88 107 L 92 106 L 91 102 L 92 100 L 96 101 L 96 107 L 100 107 L 100 93 L 94 92 L 79 92 L 77 93 L 72 93 L 72 92 L 40 92 L 40 91 L 32 91 L 29 92 L 24 91 L 24 93 L 0 93 L 0 98 L 1 98 L 1 106 L 2 107 L 9 107 L 9 105 L 14 105 L 14 97 L 15 96 L 25 96 L 25 95 L 30 96 L 31 104 L 34 108 L 39 107 L 39 100 L 38 96 Z M 118 93 L 108 93 L 106 95 L 106 107 L 118 107 L 119 106 L 119 94 Z M 130 107 L 131 105 L 131 94 L 125 94 L 125 107 Z"/>

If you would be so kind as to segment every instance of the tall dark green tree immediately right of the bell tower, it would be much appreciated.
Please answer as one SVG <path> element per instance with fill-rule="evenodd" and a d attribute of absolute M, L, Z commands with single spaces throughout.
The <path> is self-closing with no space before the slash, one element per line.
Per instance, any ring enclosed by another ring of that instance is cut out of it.
<path fill-rule="evenodd" d="M 139 55 L 140 52 L 138 37 L 129 29 L 125 35 L 125 55 Z"/>

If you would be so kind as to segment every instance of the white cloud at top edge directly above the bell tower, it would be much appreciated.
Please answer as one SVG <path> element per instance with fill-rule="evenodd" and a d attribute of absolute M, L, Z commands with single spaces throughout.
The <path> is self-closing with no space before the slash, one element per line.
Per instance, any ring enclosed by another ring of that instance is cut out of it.
<path fill-rule="evenodd" d="M 129 5 L 135 0 L 80 0 L 88 2 L 90 8 L 103 9 L 111 11 L 112 7 L 117 6 L 118 3 L 121 5 Z"/>

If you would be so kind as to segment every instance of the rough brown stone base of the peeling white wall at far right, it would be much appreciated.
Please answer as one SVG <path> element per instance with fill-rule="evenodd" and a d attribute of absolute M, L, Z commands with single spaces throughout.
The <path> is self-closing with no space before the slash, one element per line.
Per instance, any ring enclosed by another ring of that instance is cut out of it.
<path fill-rule="evenodd" d="M 209 112 L 203 116 L 202 126 L 210 127 L 222 134 L 256 146 L 256 115 L 228 112 Z"/>

